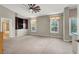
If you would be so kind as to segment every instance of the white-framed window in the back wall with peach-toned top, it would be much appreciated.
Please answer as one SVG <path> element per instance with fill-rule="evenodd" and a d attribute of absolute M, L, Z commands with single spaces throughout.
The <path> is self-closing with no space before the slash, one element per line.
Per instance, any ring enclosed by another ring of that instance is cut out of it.
<path fill-rule="evenodd" d="M 59 19 L 60 19 L 60 17 L 50 18 L 50 33 L 59 32 Z"/>

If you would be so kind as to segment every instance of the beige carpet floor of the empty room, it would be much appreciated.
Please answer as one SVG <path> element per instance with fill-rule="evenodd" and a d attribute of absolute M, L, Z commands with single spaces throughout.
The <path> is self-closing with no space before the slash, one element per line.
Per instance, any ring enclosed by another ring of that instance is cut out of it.
<path fill-rule="evenodd" d="M 23 36 L 4 40 L 5 54 L 72 54 L 72 44 L 62 39 Z"/>

